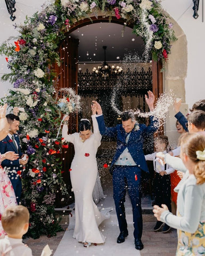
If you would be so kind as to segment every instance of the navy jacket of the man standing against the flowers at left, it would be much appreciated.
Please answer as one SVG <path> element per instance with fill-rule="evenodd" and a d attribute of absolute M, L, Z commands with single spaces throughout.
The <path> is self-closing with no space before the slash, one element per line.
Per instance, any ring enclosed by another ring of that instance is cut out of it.
<path fill-rule="evenodd" d="M 20 147 L 20 143 L 19 143 L 19 137 L 17 134 L 14 134 L 14 137 L 15 137 L 15 141 L 17 141 L 19 152 L 17 152 L 17 149 L 15 148 L 9 135 L 7 135 L 5 139 L 0 141 L 0 153 L 1 154 L 6 153 L 7 151 L 14 151 L 15 153 L 19 154 L 19 157 L 22 156 L 21 147 Z M 15 167 L 15 170 L 17 170 L 17 171 L 21 170 L 19 159 L 14 160 L 14 161 L 5 159 L 2 162 L 2 167 L 5 167 L 5 166 L 6 166 L 6 168 L 11 167 L 11 169 L 10 169 L 11 171 L 14 170 L 13 167 Z"/>

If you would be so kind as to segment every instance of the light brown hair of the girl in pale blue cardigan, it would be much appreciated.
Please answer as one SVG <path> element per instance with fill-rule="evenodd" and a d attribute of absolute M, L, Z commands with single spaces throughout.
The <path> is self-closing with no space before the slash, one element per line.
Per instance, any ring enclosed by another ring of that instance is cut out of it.
<path fill-rule="evenodd" d="M 205 182 L 205 161 L 196 157 L 196 151 L 205 149 L 205 136 L 200 133 L 185 133 L 181 137 L 181 150 L 185 153 L 192 162 L 194 162 L 194 175 L 196 184 Z"/>

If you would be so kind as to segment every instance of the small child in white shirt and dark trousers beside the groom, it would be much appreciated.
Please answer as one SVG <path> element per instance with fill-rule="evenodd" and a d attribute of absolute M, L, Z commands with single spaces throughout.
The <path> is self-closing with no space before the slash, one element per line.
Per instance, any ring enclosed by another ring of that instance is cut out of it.
<path fill-rule="evenodd" d="M 169 145 L 168 137 L 165 135 L 160 135 L 154 139 L 155 152 L 153 154 L 145 155 L 146 161 L 153 161 L 155 178 L 154 178 L 154 192 L 155 192 L 155 204 L 161 207 L 162 204 L 166 204 L 169 211 L 171 212 L 171 182 L 170 173 L 174 172 L 174 168 L 165 164 L 162 165 L 156 154 L 162 151 L 164 154 L 167 153 L 167 148 Z M 166 203 L 165 203 L 166 202 Z M 154 231 L 160 230 L 163 222 L 157 221 Z M 167 233 L 170 227 L 165 223 L 163 226 L 163 233 Z"/>

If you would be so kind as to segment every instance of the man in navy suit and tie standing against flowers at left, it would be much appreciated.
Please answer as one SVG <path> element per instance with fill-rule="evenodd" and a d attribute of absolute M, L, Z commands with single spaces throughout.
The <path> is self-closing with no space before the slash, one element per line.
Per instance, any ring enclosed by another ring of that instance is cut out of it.
<path fill-rule="evenodd" d="M 15 196 L 17 197 L 17 203 L 20 202 L 22 183 L 21 183 L 21 170 L 22 166 L 26 165 L 28 162 L 28 157 L 24 157 L 25 154 L 22 154 L 19 137 L 17 131 L 19 131 L 20 120 L 19 117 L 14 114 L 6 115 L 7 122 L 9 123 L 9 134 L 5 139 L 0 141 L 0 153 L 4 154 L 7 151 L 14 151 L 19 154 L 19 159 L 11 161 L 5 159 L 2 162 L 2 167 L 6 168 L 6 172 L 9 175 L 11 180 Z"/>

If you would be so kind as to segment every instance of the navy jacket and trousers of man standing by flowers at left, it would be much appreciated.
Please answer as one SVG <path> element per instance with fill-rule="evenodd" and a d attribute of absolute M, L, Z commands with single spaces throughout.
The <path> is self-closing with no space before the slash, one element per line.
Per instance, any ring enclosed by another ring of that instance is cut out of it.
<path fill-rule="evenodd" d="M 14 146 L 13 141 L 10 139 L 9 135 L 6 136 L 5 139 L 0 141 L 0 153 L 4 154 L 7 151 L 14 151 L 15 153 L 19 154 L 19 157 L 22 156 L 21 153 L 21 147 L 19 144 L 19 137 L 17 134 L 14 134 L 15 141 L 17 141 L 18 144 L 18 151 L 17 148 Z M 11 180 L 15 196 L 17 197 L 17 203 L 20 202 L 21 197 L 21 191 L 22 191 L 22 184 L 21 184 L 21 178 L 19 177 L 19 174 L 17 173 L 22 169 L 22 166 L 20 167 L 19 159 L 11 161 L 8 159 L 5 159 L 2 162 L 2 167 L 6 167 L 6 170 L 9 175 L 9 178 Z"/>

